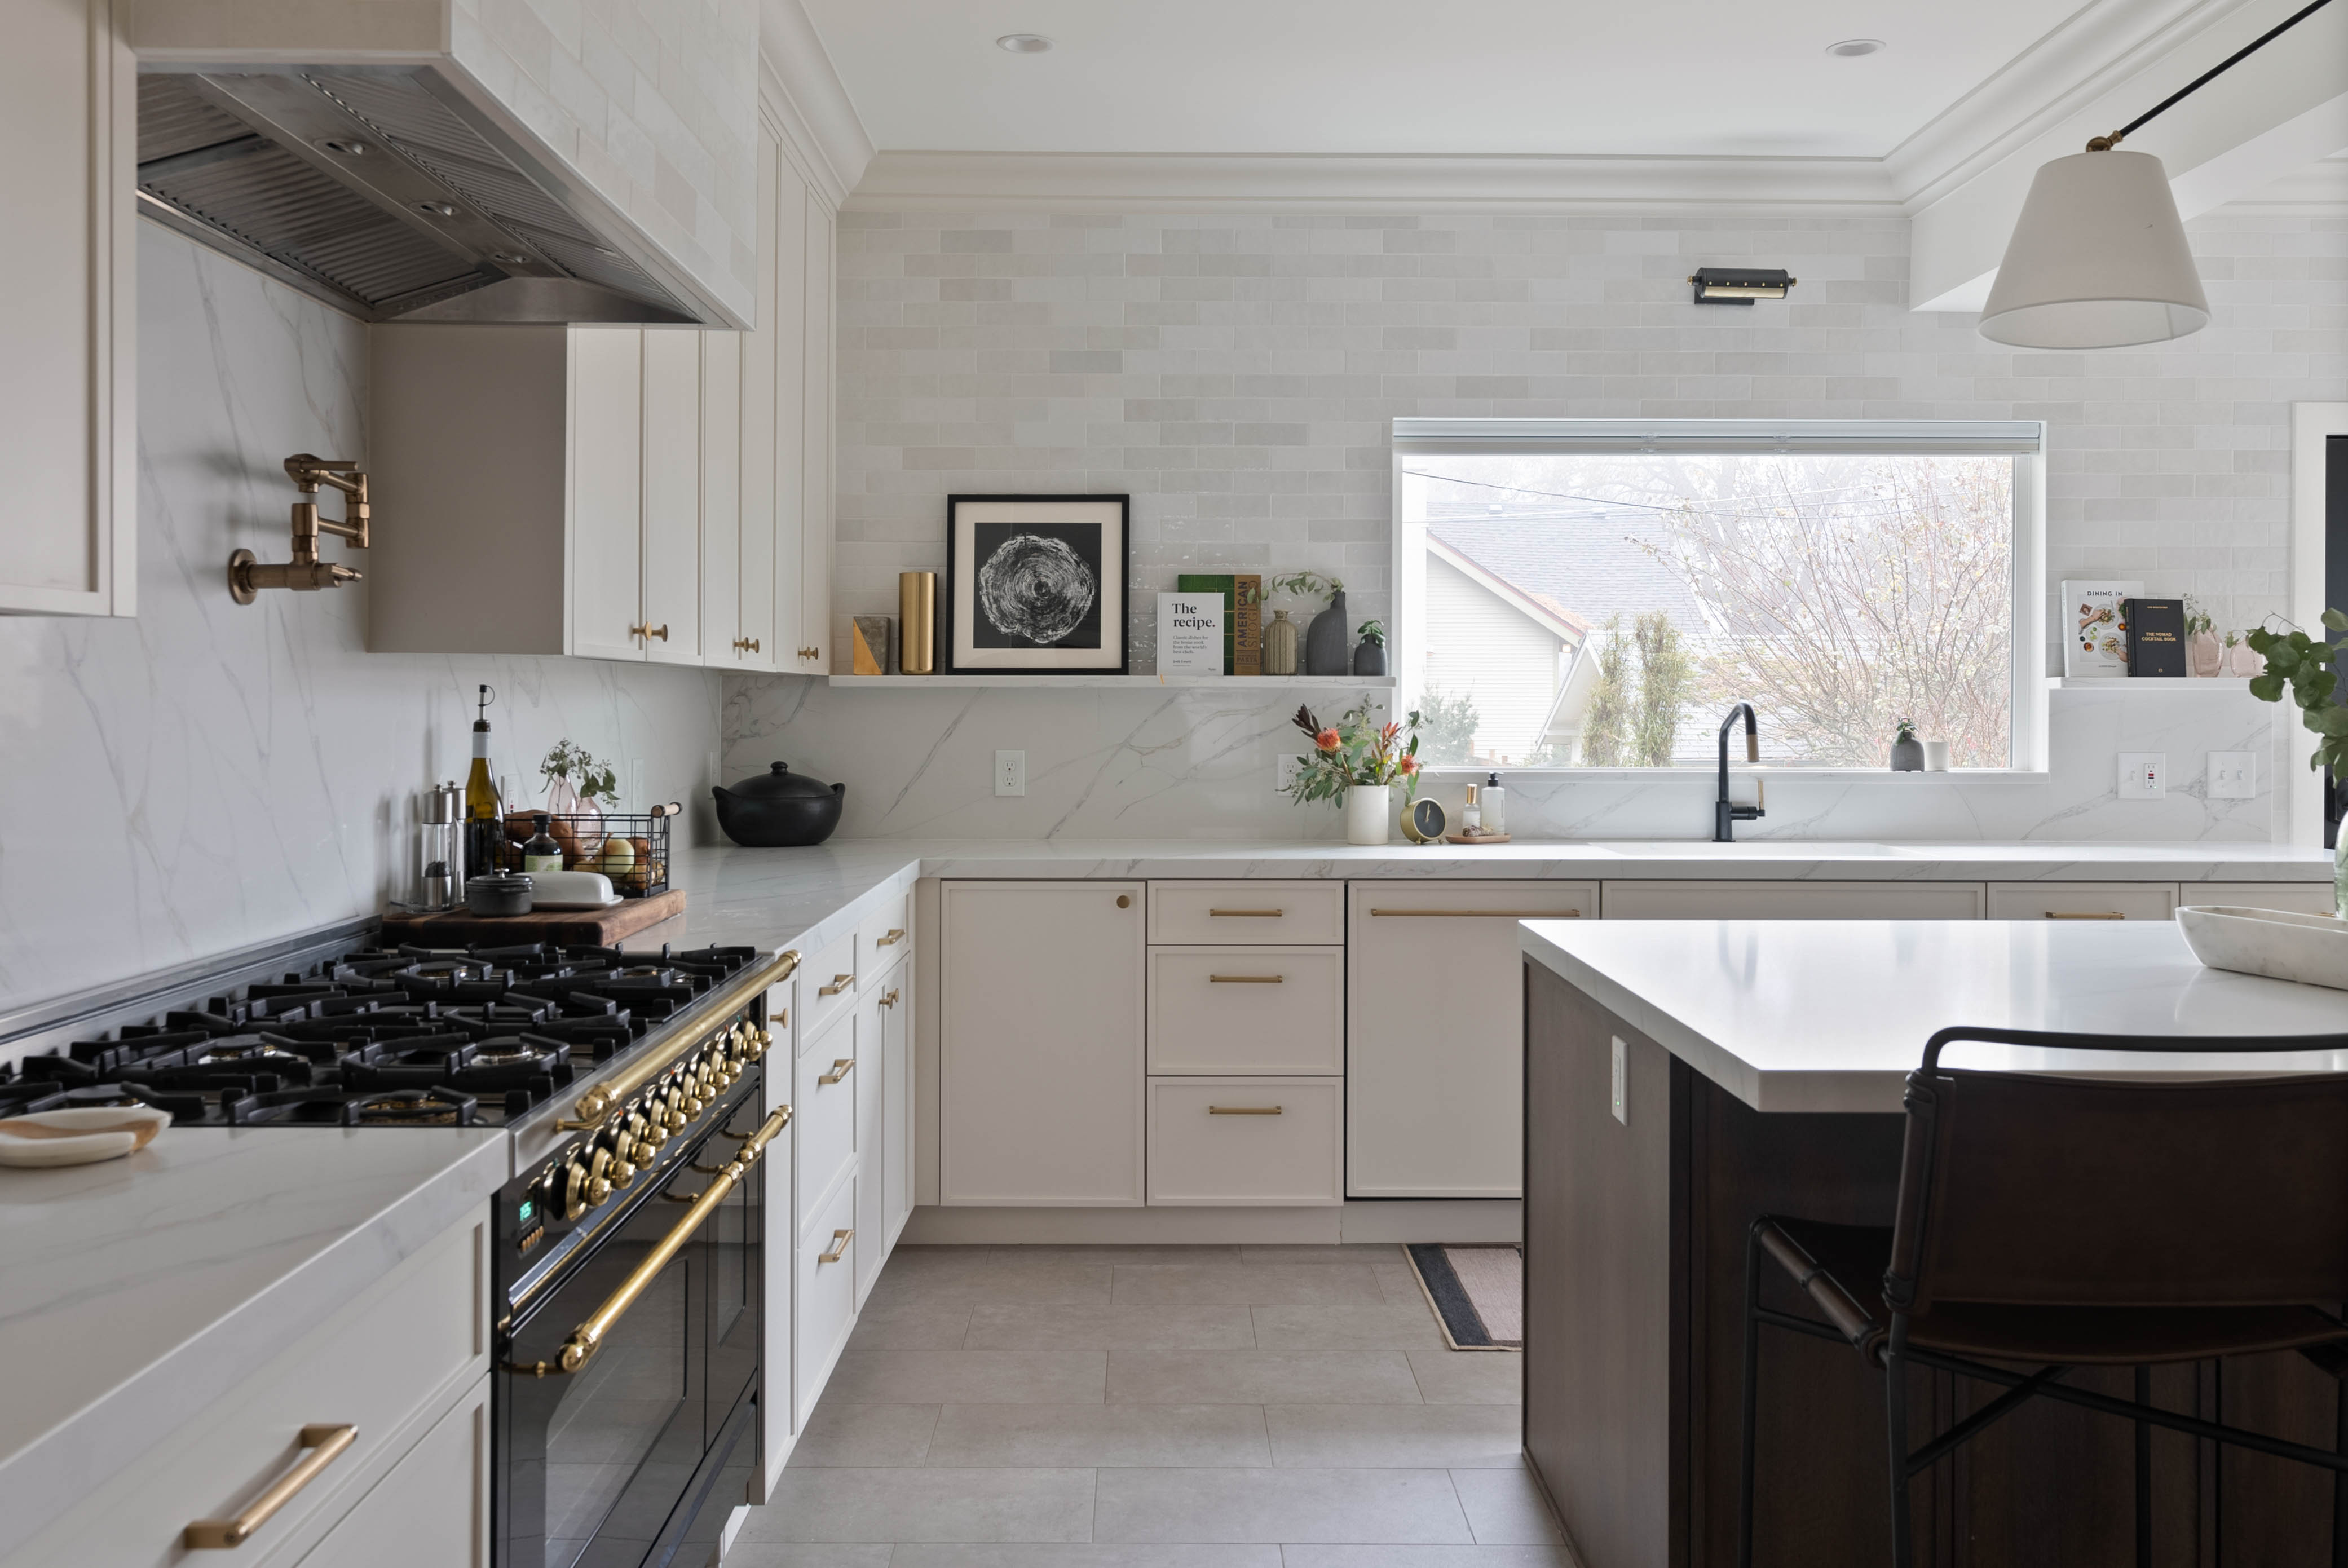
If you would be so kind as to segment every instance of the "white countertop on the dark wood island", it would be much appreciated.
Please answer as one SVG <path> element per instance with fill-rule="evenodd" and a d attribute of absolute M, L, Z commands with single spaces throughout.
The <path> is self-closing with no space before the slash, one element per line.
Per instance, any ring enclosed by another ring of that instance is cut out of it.
<path fill-rule="evenodd" d="M 1526 920 L 1526 958 L 1754 1110 L 1900 1110 L 1951 1023 L 2106 1035 L 2348 1033 L 2348 991 L 2205 969 L 2167 920 Z M 2059 1054 L 1949 1066 L 2214 1077 L 2348 1070 L 2341 1054 Z"/>

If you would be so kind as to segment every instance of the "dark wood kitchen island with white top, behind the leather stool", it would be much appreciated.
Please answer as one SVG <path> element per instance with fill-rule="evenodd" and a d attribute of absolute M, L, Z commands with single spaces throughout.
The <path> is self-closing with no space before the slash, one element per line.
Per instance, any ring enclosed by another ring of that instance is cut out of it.
<path fill-rule="evenodd" d="M 2348 991 L 2202 969 L 2167 922 L 1547 920 L 1522 934 L 1524 1448 L 1585 1568 L 1735 1563 L 1747 1228 L 1756 1214 L 1890 1223 L 1900 1094 L 1935 1028 L 2348 1030 Z M 1949 1066 L 2066 1066 L 1965 1052 Z M 2137 1066 L 2348 1070 L 2303 1054 Z M 1815 1317 L 1782 1279 L 1763 1303 Z M 1754 1563 L 1888 1563 L 1881 1373 L 1841 1343 L 1766 1331 L 1761 1345 Z M 1911 1376 L 1916 1444 L 1996 1394 Z M 2132 1392 L 2127 1368 L 2071 1383 Z M 2336 1385 L 2296 1354 L 2160 1368 L 2153 1397 L 2334 1446 Z M 2031 1401 L 1914 1486 L 1918 1563 L 2137 1561 L 2132 1422 Z M 2332 1561 L 2332 1481 L 2310 1467 L 2155 1430 L 2151 1493 L 2160 1568 Z"/>

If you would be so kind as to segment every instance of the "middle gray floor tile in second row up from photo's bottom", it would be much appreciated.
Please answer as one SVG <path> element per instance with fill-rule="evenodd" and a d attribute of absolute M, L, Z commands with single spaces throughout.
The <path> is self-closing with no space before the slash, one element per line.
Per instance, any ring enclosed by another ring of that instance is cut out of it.
<path fill-rule="evenodd" d="M 1104 1469 L 1094 1540 L 1468 1542 L 1442 1469 Z"/>

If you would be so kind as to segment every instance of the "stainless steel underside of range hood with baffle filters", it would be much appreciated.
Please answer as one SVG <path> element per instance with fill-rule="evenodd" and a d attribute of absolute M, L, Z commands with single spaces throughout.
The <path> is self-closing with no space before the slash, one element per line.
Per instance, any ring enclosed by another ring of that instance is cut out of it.
<path fill-rule="evenodd" d="M 141 214 L 366 322 L 707 324 L 430 66 L 148 70 Z"/>

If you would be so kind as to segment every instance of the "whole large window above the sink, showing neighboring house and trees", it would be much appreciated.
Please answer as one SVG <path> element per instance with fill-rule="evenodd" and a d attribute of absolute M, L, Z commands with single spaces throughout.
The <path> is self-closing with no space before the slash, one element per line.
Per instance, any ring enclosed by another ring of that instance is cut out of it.
<path fill-rule="evenodd" d="M 2036 753 L 2038 423 L 1395 420 L 1402 695 L 1449 768 Z"/>

